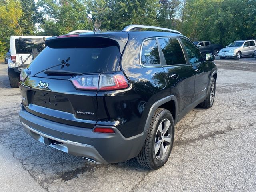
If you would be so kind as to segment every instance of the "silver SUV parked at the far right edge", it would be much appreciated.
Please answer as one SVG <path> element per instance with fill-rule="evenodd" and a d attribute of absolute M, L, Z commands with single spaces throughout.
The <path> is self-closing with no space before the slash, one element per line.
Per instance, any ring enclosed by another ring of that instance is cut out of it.
<path fill-rule="evenodd" d="M 219 56 L 220 59 L 240 59 L 242 56 L 254 56 L 255 51 L 256 40 L 237 40 L 220 50 Z"/>

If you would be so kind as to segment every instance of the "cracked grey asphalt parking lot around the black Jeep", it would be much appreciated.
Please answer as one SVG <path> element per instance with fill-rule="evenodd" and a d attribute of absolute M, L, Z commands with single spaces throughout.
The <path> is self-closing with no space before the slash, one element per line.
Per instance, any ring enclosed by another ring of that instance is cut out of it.
<path fill-rule="evenodd" d="M 26 135 L 19 89 L 0 64 L 0 191 L 256 191 L 256 60 L 216 59 L 214 106 L 195 108 L 175 127 L 174 148 L 156 171 L 97 165 Z"/>

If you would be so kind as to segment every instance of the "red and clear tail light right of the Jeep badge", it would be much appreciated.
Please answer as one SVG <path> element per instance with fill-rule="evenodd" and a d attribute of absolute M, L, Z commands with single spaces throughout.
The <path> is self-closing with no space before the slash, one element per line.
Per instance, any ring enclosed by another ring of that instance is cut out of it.
<path fill-rule="evenodd" d="M 120 90 L 129 86 L 122 72 L 114 74 L 82 75 L 70 79 L 81 90 Z"/>

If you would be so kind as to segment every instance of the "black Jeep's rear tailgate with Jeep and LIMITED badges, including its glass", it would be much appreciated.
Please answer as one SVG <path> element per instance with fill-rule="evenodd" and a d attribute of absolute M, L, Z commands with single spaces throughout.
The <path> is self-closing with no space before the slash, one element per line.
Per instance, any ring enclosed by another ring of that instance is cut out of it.
<path fill-rule="evenodd" d="M 118 43 L 102 37 L 68 37 L 51 39 L 29 65 L 29 76 L 21 83 L 22 105 L 39 117 L 93 128 L 98 120 L 98 90 L 80 90 L 70 78 L 119 71 Z M 74 74 L 46 74 L 45 70 Z M 86 83 L 93 84 L 86 79 Z M 98 86 L 98 85 L 97 85 Z"/>

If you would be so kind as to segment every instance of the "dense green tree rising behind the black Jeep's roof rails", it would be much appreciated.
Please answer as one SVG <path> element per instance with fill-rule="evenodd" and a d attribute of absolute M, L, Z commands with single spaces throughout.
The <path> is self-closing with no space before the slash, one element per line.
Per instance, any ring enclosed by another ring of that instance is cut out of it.
<path fill-rule="evenodd" d="M 86 0 L 102 30 L 122 30 L 130 24 L 156 25 L 158 0 Z"/>

